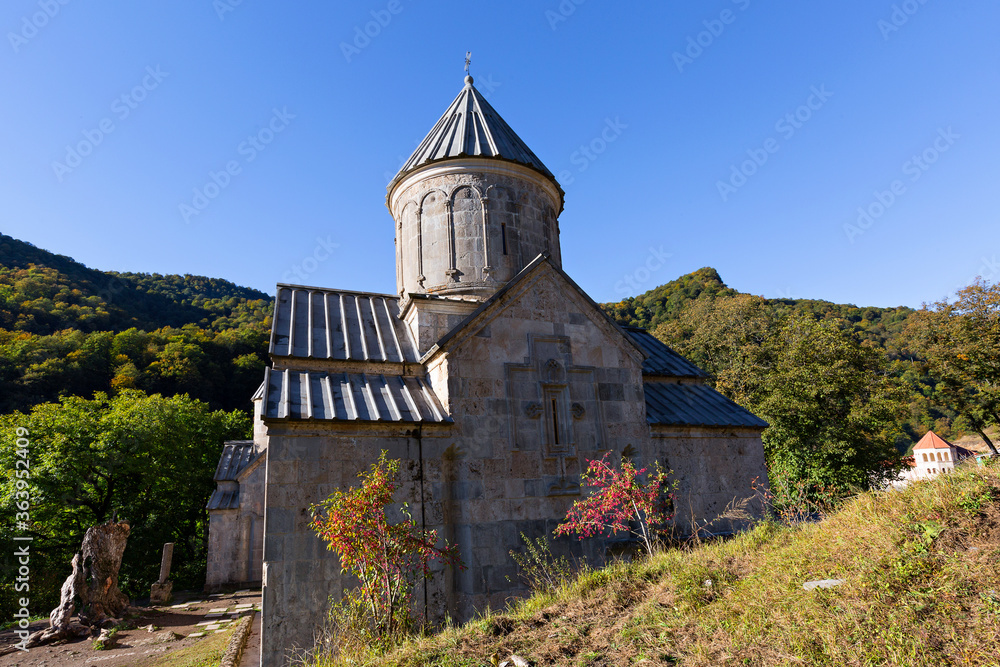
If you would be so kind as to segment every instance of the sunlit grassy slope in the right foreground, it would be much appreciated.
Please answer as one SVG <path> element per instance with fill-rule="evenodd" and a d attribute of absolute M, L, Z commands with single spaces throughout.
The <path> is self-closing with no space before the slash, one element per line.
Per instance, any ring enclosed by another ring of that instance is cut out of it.
<path fill-rule="evenodd" d="M 998 568 L 1000 465 L 965 468 L 587 573 L 380 664 L 1000 665 Z M 846 583 L 802 588 L 826 578 Z"/>

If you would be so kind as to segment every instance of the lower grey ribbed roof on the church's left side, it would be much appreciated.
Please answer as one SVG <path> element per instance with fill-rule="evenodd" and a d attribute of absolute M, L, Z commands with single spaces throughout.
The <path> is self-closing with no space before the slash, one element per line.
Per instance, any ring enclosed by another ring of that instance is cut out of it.
<path fill-rule="evenodd" d="M 267 419 L 451 421 L 421 378 L 267 369 Z"/>

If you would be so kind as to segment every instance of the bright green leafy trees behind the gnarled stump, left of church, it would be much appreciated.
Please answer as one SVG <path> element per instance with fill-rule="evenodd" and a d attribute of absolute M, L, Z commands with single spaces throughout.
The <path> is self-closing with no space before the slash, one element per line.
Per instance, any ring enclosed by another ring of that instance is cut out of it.
<path fill-rule="evenodd" d="M 28 429 L 31 442 L 28 531 L 34 537 L 32 576 L 39 578 L 32 582 L 32 604 L 38 605 L 32 611 L 54 606 L 83 534 L 113 515 L 132 526 L 121 571 L 127 594 L 148 593 L 164 542 L 177 545 L 175 581 L 203 583 L 205 504 L 223 441 L 250 433 L 244 413 L 213 412 L 186 395 L 165 398 L 126 390 L 113 398 L 64 397 L 28 414 L 0 415 L 5 471 L 0 532 L 5 539 L 23 533 L 13 505 L 18 427 Z M 5 581 L 12 580 L 8 575 L 3 573 Z"/>

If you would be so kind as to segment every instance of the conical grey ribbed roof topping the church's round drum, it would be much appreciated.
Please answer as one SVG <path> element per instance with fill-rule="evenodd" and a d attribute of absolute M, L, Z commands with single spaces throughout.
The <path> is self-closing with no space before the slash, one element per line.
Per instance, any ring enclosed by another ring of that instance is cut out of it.
<path fill-rule="evenodd" d="M 392 182 L 395 183 L 405 174 L 430 162 L 462 156 L 516 162 L 555 181 L 552 172 L 472 85 L 471 76 L 465 77 L 465 88 L 434 125 L 430 134 L 420 142 Z M 389 187 L 391 189 L 392 184 Z"/>

